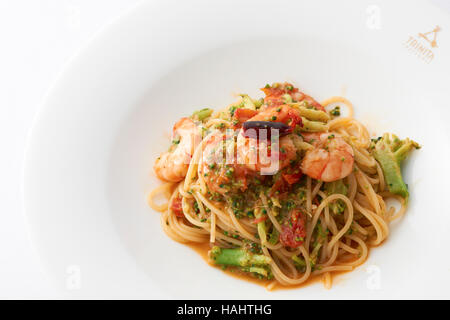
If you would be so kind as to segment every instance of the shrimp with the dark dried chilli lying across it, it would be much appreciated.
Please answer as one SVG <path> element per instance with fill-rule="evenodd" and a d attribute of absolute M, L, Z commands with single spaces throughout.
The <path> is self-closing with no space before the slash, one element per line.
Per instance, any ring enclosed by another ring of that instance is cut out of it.
<path fill-rule="evenodd" d="M 301 124 L 301 117 L 295 108 L 288 105 L 270 106 L 248 121 L 270 121 L 288 124 L 292 129 Z M 289 136 L 273 143 L 271 140 L 257 140 L 245 135 L 241 130 L 237 138 L 237 152 L 240 163 L 251 171 L 265 171 L 273 174 L 289 165 L 297 157 L 297 149 Z"/>

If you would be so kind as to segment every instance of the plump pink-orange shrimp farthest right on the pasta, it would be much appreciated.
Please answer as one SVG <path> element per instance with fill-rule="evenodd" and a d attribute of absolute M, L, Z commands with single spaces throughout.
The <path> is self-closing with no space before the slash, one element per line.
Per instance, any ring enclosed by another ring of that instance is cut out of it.
<path fill-rule="evenodd" d="M 314 148 L 302 160 L 301 170 L 307 176 L 332 182 L 348 176 L 353 169 L 352 147 L 340 136 L 329 133 L 304 133 L 306 142 Z"/>

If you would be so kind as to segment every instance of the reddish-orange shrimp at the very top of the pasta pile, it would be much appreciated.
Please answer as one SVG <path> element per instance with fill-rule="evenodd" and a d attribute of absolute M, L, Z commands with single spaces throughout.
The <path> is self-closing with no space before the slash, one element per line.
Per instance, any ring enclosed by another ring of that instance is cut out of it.
<path fill-rule="evenodd" d="M 310 106 L 317 110 L 325 111 L 325 108 L 314 100 L 311 96 L 304 94 L 290 83 L 274 83 L 273 85 L 261 89 L 266 94 L 264 102 L 268 106 L 279 106 L 285 103 L 283 96 L 288 94 L 294 102 L 307 102 Z"/>

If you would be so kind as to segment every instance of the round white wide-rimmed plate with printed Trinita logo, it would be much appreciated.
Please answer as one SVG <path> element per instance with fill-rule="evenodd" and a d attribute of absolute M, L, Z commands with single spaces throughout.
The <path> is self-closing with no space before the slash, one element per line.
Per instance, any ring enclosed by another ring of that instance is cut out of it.
<path fill-rule="evenodd" d="M 392 2 L 159 1 L 97 35 L 45 99 L 26 155 L 33 240 L 62 292 L 449 298 L 449 16 L 423 2 L 404 2 L 407 11 Z M 432 48 L 418 33 L 436 25 L 442 30 Z M 431 50 L 431 62 L 414 41 Z M 344 93 L 372 132 L 394 131 L 424 146 L 405 168 L 405 218 L 329 291 L 316 283 L 267 292 L 231 278 L 170 240 L 146 203 L 158 183 L 154 159 L 174 121 L 284 80 L 318 100 Z"/>

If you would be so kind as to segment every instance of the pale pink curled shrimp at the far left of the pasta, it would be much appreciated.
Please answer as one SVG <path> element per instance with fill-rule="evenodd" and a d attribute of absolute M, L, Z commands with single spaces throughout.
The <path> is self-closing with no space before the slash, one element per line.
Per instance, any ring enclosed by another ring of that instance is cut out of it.
<path fill-rule="evenodd" d="M 194 121 L 181 118 L 173 127 L 172 137 L 172 146 L 156 159 L 153 169 L 158 178 L 178 182 L 186 176 L 201 135 Z"/>

